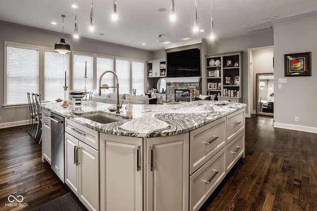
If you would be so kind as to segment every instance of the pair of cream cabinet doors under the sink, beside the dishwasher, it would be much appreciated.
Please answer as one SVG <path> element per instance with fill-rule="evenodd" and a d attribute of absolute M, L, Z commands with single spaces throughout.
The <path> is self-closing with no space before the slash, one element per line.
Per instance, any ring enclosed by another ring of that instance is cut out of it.
<path fill-rule="evenodd" d="M 99 151 L 65 133 L 65 183 L 90 211 L 99 211 Z"/>

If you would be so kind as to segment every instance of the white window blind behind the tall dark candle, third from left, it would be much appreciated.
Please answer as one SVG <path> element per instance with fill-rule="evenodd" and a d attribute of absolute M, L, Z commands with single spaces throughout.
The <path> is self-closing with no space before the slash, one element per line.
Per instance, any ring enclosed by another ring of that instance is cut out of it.
<path fill-rule="evenodd" d="M 93 55 L 73 55 L 73 89 L 85 88 L 85 65 L 87 61 L 87 91 L 94 91 L 94 57 Z"/>

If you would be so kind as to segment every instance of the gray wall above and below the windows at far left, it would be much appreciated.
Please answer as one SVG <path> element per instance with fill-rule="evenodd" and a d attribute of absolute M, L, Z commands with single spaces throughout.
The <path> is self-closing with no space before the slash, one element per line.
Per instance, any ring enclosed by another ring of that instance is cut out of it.
<path fill-rule="evenodd" d="M 2 106 L 4 104 L 4 41 L 53 47 L 55 42 L 59 42 L 60 36 L 61 33 L 45 31 L 7 22 L 0 22 L 0 128 L 11 127 L 14 126 L 14 124 L 24 124 L 25 120 L 29 119 L 28 107 L 4 108 Z M 148 50 L 89 40 L 85 38 L 76 40 L 69 35 L 64 35 L 64 38 L 66 42 L 70 44 L 71 50 L 142 59 L 145 61 L 153 59 L 153 52 Z M 40 71 L 43 70 L 40 69 Z M 21 91 L 25 90 L 21 88 Z M 13 124 L 12 122 L 16 123 Z"/>

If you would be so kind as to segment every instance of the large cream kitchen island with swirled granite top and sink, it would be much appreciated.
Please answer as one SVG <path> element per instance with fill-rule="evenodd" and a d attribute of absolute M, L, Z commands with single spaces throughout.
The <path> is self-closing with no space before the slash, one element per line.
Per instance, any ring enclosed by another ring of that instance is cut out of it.
<path fill-rule="evenodd" d="M 216 103 L 133 105 L 132 118 L 125 106 L 115 114 L 107 110 L 112 105 L 93 101 L 42 107 L 65 117 L 65 183 L 89 210 L 188 211 L 198 210 L 245 156 L 246 104 Z M 123 121 L 84 118 L 92 113 Z"/>

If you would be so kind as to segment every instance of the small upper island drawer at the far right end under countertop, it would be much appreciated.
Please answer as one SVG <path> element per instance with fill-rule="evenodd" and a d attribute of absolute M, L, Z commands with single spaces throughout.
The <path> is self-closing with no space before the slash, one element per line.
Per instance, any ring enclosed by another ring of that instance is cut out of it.
<path fill-rule="evenodd" d="M 244 121 L 244 109 L 236 111 L 227 116 L 227 141 L 228 144 L 232 139 L 234 139 L 245 127 Z"/>

